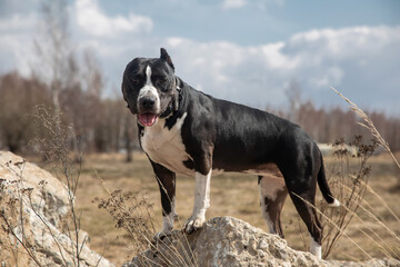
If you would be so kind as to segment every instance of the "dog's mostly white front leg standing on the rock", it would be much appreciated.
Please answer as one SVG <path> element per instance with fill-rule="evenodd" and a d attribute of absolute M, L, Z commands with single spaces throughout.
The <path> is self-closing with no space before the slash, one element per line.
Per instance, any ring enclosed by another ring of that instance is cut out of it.
<path fill-rule="evenodd" d="M 193 212 L 183 226 L 186 234 L 191 234 L 202 227 L 206 221 L 206 210 L 210 207 L 211 169 L 207 175 L 196 172 Z"/>

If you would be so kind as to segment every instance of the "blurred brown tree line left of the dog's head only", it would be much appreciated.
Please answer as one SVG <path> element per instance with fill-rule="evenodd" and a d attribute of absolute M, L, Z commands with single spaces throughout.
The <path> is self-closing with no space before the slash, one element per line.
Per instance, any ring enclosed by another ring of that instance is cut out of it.
<path fill-rule="evenodd" d="M 38 106 L 54 110 L 51 88 L 38 77 L 13 71 L 0 77 L 0 149 L 32 152 L 32 140 L 46 138 L 34 116 Z M 116 152 L 138 149 L 136 117 L 122 99 L 102 99 L 73 82 L 60 90 L 61 122 L 71 126 L 77 141 L 71 149 Z"/>

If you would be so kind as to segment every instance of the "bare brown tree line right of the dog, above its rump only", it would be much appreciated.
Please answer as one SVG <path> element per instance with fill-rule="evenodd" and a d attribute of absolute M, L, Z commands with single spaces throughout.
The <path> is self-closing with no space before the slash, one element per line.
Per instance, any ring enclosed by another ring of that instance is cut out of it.
<path fill-rule="evenodd" d="M 276 110 L 284 117 L 300 125 L 318 142 L 334 142 L 344 137 L 351 140 L 354 135 L 372 138 L 371 134 L 359 122 L 363 122 L 352 110 L 339 107 L 317 108 L 311 100 L 302 100 L 301 88 L 293 80 L 287 88 L 289 110 Z M 338 97 L 339 98 L 339 97 Z M 381 136 L 389 142 L 392 151 L 400 150 L 400 118 L 391 117 L 382 111 L 363 110 L 373 121 Z"/>

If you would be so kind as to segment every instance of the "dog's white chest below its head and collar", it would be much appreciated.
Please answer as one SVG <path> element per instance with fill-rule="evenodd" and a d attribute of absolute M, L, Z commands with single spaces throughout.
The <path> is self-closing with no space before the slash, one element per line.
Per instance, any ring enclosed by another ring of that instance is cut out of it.
<path fill-rule="evenodd" d="M 177 174 L 192 176 L 193 170 L 183 165 L 183 161 L 189 159 L 181 137 L 187 113 L 179 118 L 171 129 L 164 127 L 164 120 L 158 121 L 152 127 L 146 127 L 140 141 L 144 152 L 152 161 Z"/>

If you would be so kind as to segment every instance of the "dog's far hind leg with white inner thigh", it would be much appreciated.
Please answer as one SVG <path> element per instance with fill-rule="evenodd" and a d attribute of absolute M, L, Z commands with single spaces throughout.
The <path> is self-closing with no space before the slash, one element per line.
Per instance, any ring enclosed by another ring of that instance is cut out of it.
<path fill-rule="evenodd" d="M 288 196 L 282 177 L 266 174 L 259 176 L 261 214 L 271 234 L 283 238 L 280 214 Z"/>

